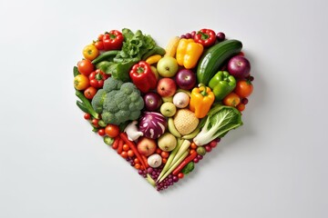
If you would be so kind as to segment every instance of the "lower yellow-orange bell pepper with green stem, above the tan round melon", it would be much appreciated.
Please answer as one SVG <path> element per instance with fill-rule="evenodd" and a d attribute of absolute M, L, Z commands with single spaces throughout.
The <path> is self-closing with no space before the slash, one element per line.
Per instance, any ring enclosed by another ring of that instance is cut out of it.
<path fill-rule="evenodd" d="M 210 106 L 214 103 L 215 95 L 209 87 L 200 84 L 199 88 L 193 88 L 190 97 L 190 111 L 195 113 L 197 118 L 203 118 L 210 111 Z"/>

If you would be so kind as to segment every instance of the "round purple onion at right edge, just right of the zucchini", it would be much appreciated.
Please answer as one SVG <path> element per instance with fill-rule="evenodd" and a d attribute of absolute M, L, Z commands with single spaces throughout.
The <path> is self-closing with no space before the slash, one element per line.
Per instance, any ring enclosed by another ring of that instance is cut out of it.
<path fill-rule="evenodd" d="M 250 71 L 251 64 L 244 56 L 233 56 L 228 62 L 228 72 L 236 78 L 245 78 Z"/>

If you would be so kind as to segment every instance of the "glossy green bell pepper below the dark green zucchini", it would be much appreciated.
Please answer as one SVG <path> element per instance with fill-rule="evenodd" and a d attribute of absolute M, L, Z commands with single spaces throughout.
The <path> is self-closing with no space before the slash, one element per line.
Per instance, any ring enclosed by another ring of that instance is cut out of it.
<path fill-rule="evenodd" d="M 236 87 L 236 79 L 227 71 L 219 71 L 210 79 L 209 86 L 215 95 L 215 100 L 220 101 Z"/>

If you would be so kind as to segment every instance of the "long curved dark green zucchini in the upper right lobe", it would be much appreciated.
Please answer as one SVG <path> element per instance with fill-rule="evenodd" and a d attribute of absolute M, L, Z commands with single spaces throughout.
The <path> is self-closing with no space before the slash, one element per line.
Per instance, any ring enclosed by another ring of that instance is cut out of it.
<path fill-rule="evenodd" d="M 197 66 L 197 80 L 199 84 L 208 85 L 210 79 L 220 70 L 220 67 L 231 56 L 241 52 L 240 41 L 230 39 L 213 45 L 200 57 Z"/>

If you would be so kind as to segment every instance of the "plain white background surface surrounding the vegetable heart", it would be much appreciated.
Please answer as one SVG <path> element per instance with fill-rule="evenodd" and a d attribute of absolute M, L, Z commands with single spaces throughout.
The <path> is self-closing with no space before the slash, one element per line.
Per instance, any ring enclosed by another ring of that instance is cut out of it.
<path fill-rule="evenodd" d="M 0 217 L 328 217 L 325 1 L 0 1 Z M 156 192 L 77 108 L 72 68 L 98 34 L 165 46 L 202 27 L 243 42 L 244 125 Z"/>

